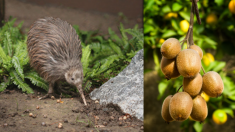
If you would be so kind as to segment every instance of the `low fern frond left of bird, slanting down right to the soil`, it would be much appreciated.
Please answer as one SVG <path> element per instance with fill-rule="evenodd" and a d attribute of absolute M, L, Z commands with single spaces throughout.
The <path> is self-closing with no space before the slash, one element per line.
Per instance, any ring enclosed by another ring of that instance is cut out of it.
<path fill-rule="evenodd" d="M 32 88 L 30 88 L 28 84 L 25 83 L 14 70 L 10 71 L 10 75 L 13 79 L 13 83 L 17 85 L 18 88 L 21 88 L 23 92 L 34 93 Z"/>

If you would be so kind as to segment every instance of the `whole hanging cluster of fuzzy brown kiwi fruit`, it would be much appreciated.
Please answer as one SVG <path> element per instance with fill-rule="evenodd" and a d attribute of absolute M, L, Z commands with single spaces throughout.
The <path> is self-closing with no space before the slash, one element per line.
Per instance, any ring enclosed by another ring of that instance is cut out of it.
<path fill-rule="evenodd" d="M 166 79 L 183 76 L 183 92 L 169 95 L 162 104 L 162 117 L 169 123 L 184 121 L 191 116 L 195 121 L 203 122 L 208 114 L 207 103 L 201 92 L 210 97 L 218 97 L 224 89 L 223 81 L 217 72 L 209 71 L 200 74 L 202 49 L 191 45 L 181 49 L 175 38 L 167 39 L 161 46 L 161 70 Z"/>

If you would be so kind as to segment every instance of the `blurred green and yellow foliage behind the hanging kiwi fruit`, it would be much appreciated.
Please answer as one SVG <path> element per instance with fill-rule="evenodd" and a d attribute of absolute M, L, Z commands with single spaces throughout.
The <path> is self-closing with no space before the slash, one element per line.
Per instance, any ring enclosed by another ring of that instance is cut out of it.
<path fill-rule="evenodd" d="M 146 132 L 232 132 L 235 129 L 235 0 L 199 0 L 202 24 L 194 17 L 194 44 L 203 50 L 202 65 L 220 74 L 224 91 L 218 98 L 202 95 L 208 117 L 203 123 L 190 119 L 167 124 L 161 116 L 163 100 L 176 93 L 183 77 L 167 81 L 160 69 L 161 44 L 185 38 L 189 27 L 190 0 L 144 0 L 144 125 Z M 214 117 L 214 118 L 212 118 Z M 220 124 L 220 125 L 219 125 Z"/>

